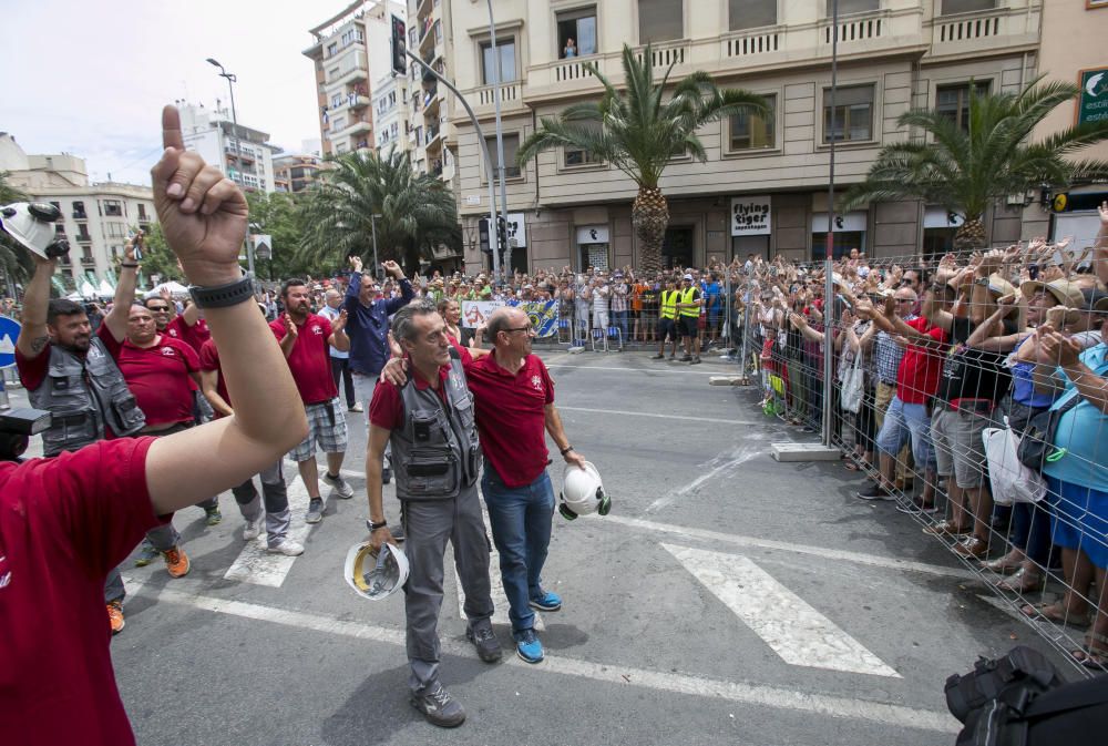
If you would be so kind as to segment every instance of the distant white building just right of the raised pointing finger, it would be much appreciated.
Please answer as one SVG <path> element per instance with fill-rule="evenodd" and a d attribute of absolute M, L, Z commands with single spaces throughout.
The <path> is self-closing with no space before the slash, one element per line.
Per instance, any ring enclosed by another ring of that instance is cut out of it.
<path fill-rule="evenodd" d="M 280 149 L 269 144 L 269 134 L 239 122 L 234 123 L 230 109 L 177 101 L 181 133 L 185 146 L 218 166 L 233 182 L 247 191 L 274 192 L 274 153 Z"/>

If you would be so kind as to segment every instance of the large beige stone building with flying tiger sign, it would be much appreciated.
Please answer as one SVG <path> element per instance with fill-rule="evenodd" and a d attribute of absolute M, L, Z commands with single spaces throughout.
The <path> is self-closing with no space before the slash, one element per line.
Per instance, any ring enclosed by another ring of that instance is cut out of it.
<path fill-rule="evenodd" d="M 422 4 L 430 4 L 424 0 Z M 444 2 L 443 6 L 447 3 Z M 451 3 L 455 84 L 482 122 L 495 164 L 493 89 L 503 108 L 507 212 L 517 268 L 637 265 L 630 205 L 637 187 L 611 163 L 571 149 L 542 153 L 524 167 L 520 143 L 543 116 L 598 100 L 592 62 L 617 86 L 620 51 L 650 47 L 656 80 L 693 71 L 720 86 L 762 94 L 770 113 L 705 126 L 707 162 L 675 156 L 661 180 L 669 201 L 663 248 L 669 264 L 710 257 L 823 255 L 830 144 L 837 190 L 864 178 L 882 145 L 917 137 L 897 116 L 940 108 L 967 121 L 971 81 L 982 90 L 1018 91 L 1038 70 L 1042 0 L 840 0 L 838 95 L 832 104 L 831 0 L 501 0 L 496 44 L 484 3 Z M 1104 11 L 1108 13 L 1108 11 Z M 571 40 L 573 43 L 571 44 Z M 496 78 L 496 62 L 503 70 Z M 465 262 L 489 266 L 478 222 L 489 214 L 485 164 L 468 119 L 456 127 L 456 182 Z M 737 219 L 750 210 L 768 218 Z M 987 216 L 993 243 L 1020 236 L 1038 204 L 1002 203 Z M 871 255 L 942 252 L 957 219 L 937 205 L 893 202 L 837 216 L 835 252 Z"/>

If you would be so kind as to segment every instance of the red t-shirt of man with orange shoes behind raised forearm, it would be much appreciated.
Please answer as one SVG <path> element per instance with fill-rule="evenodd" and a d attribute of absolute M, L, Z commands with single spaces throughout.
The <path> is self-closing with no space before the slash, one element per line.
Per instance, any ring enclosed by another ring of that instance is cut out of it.
<path fill-rule="evenodd" d="M 195 381 L 188 374 L 201 369 L 193 348 L 165 335 L 153 347 L 135 347 L 126 339 L 115 341 L 106 329 L 102 324 L 96 334 L 120 366 L 146 425 L 192 422 Z"/>

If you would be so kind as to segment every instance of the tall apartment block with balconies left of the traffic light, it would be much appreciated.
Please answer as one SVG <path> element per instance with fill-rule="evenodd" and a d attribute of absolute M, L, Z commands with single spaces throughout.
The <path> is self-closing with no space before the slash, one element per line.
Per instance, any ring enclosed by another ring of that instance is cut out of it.
<path fill-rule="evenodd" d="M 391 67 L 389 17 L 404 12 L 392 0 L 358 0 L 311 29 L 304 54 L 316 65 L 325 156 L 376 146 L 370 84 Z"/>

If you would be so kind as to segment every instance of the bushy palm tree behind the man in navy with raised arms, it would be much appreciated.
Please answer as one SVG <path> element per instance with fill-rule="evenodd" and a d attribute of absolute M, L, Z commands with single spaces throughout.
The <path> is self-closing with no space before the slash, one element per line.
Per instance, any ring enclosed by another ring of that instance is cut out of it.
<path fill-rule="evenodd" d="M 365 151 L 330 163 L 301 212 L 305 260 L 342 266 L 347 256 L 358 255 L 371 262 L 375 214 L 381 260 L 418 269 L 435 246 L 461 245 L 453 195 L 438 178 L 417 173 L 408 153 Z"/>

